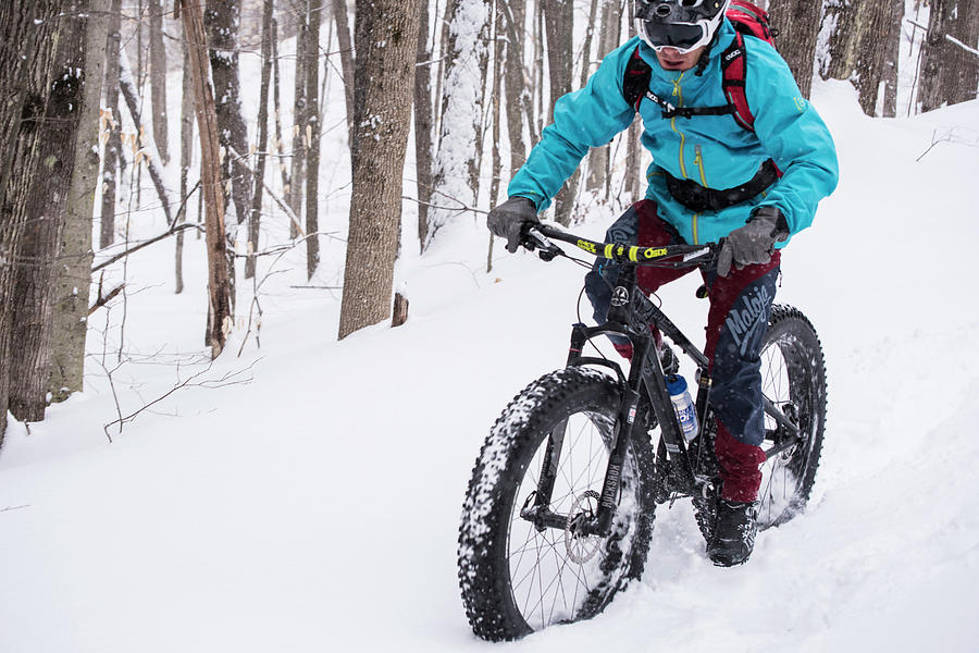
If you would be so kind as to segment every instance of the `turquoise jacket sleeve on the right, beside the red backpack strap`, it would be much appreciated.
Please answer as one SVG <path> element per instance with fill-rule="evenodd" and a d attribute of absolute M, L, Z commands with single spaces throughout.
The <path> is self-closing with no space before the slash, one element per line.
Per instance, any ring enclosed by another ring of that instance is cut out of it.
<path fill-rule="evenodd" d="M 774 48 L 756 39 L 751 46 L 745 95 L 755 134 L 783 173 L 760 205 L 778 207 L 795 234 L 813 223 L 816 205 L 837 187 L 837 148 Z"/>

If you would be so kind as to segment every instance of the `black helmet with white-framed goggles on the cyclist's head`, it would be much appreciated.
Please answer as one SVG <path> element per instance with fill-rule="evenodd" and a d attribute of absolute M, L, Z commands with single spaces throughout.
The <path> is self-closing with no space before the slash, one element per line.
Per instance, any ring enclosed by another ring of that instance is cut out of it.
<path fill-rule="evenodd" d="M 654 50 L 682 53 L 706 46 L 730 0 L 635 0 L 635 30 Z"/>

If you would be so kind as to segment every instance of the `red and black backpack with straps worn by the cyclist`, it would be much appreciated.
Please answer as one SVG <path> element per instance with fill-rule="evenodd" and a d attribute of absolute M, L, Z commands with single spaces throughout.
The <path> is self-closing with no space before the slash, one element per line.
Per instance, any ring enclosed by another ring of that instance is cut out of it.
<path fill-rule="evenodd" d="M 622 79 L 622 91 L 630 104 L 639 111 L 643 98 L 648 98 L 659 104 L 665 119 L 693 118 L 694 115 L 728 115 L 732 114 L 739 125 L 749 132 L 755 131 L 755 116 L 747 106 L 747 97 L 744 93 L 745 77 L 747 76 L 744 54 L 744 37 L 754 36 L 771 44 L 774 47 L 773 32 L 769 24 L 768 13 L 745 0 L 731 0 L 728 7 L 727 17 L 734 25 L 735 37 L 727 50 L 721 54 L 721 82 L 728 103 L 723 107 L 674 107 L 649 90 L 649 76 L 653 71 L 649 64 L 640 57 L 639 48 L 632 52 L 629 64 L 625 66 L 625 75 Z M 706 64 L 707 60 L 702 59 Z M 697 74 L 703 73 L 702 63 L 697 64 Z"/>

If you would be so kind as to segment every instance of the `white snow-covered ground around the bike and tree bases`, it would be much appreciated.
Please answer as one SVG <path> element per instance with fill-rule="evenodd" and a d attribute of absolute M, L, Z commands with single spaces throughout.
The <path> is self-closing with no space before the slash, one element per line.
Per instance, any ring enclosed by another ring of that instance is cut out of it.
<path fill-rule="evenodd" d="M 979 650 L 979 101 L 910 120 L 865 118 L 843 83 L 814 101 L 842 181 L 793 239 L 778 297 L 827 355 L 808 510 L 719 569 L 689 506 L 661 507 L 641 582 L 588 623 L 503 648 Z M 342 186 L 345 165 L 330 159 L 321 185 Z M 323 201 L 340 238 L 347 199 Z M 600 236 L 608 220 L 577 229 Z M 406 246 L 408 323 L 343 342 L 338 292 L 294 287 L 339 285 L 343 243 L 324 239 L 312 282 L 294 251 L 259 293 L 261 348 L 244 337 L 239 281 L 236 332 L 210 368 L 202 242 L 187 241 L 183 295 L 168 246 L 131 257 L 125 332 L 121 301 L 92 317 L 86 392 L 3 444 L 0 651 L 487 650 L 458 595 L 462 494 L 496 415 L 561 366 L 582 271 L 497 246 L 487 274 L 486 244 L 482 219 L 463 218 L 424 257 Z M 695 287 L 661 294 L 694 335 Z M 198 373 L 109 443 L 107 423 Z"/>

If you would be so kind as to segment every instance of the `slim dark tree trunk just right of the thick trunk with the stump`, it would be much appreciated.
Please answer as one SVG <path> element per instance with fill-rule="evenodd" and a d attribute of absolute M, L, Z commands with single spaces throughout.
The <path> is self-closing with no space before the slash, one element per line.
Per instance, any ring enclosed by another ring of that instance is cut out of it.
<path fill-rule="evenodd" d="M 425 244 L 429 204 L 432 201 L 432 50 L 429 38 L 429 3 L 419 2 L 419 30 L 414 71 L 414 161 L 418 190 L 418 243 Z"/>

